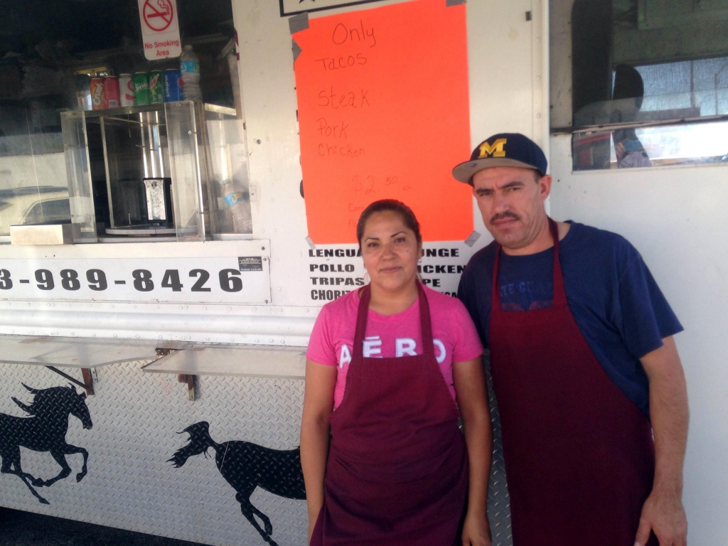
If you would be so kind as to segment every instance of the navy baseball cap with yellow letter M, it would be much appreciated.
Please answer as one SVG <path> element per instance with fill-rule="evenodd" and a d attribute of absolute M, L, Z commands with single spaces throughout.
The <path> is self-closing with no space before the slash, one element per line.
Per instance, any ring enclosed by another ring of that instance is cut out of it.
<path fill-rule="evenodd" d="M 538 144 L 520 132 L 499 132 L 476 146 L 470 161 L 456 165 L 456 180 L 470 183 L 472 175 L 491 167 L 521 167 L 546 174 L 546 156 Z"/>

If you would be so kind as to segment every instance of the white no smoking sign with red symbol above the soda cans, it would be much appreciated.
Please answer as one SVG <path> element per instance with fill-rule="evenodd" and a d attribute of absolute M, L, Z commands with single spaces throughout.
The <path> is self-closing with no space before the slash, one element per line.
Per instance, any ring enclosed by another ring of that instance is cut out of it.
<path fill-rule="evenodd" d="M 149 60 L 182 53 L 175 0 L 138 0 L 144 56 Z"/>

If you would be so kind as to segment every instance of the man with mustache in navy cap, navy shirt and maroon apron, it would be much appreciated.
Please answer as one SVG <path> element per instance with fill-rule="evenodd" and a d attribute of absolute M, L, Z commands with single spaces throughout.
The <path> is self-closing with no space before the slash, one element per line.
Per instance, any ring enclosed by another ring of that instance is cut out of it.
<path fill-rule="evenodd" d="M 458 296 L 491 352 L 513 544 L 684 546 L 682 327 L 629 242 L 547 217 L 546 169 L 502 133 L 453 170 L 495 239 Z"/>

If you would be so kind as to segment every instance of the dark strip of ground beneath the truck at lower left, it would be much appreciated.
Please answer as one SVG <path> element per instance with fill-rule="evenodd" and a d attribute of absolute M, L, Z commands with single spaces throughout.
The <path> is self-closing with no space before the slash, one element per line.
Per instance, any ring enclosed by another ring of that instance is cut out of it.
<path fill-rule="evenodd" d="M 197 543 L 0 508 L 0 545 L 197 546 Z"/>

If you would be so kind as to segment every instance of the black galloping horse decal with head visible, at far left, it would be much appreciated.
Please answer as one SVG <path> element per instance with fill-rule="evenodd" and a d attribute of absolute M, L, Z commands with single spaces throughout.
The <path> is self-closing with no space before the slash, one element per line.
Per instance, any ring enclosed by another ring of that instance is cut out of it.
<path fill-rule="evenodd" d="M 84 429 L 93 426 L 89 408 L 86 405 L 86 394 L 79 395 L 75 387 L 52 387 L 50 389 L 31 389 L 28 385 L 23 387 L 33 393 L 33 403 L 25 405 L 13 397 L 15 402 L 30 417 L 14 417 L 0 414 L 0 457 L 2 458 L 3 474 L 18 476 L 33 496 L 44 505 L 50 504 L 38 494 L 35 487 L 50 487 L 58 480 L 63 480 L 71 474 L 71 467 L 66 462 L 66 455 L 81 453 L 84 456 L 84 467 L 76 474 L 79 482 L 86 475 L 89 452 L 66 443 L 68 432 L 68 416 L 76 416 L 84 425 Z M 33 478 L 28 472 L 23 472 L 20 466 L 20 446 L 33 451 L 50 451 L 53 459 L 60 464 L 60 472 L 55 478 L 41 480 Z M 31 485 L 32 484 L 32 485 Z"/>

